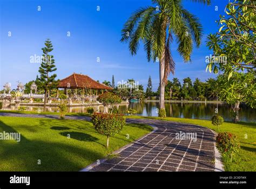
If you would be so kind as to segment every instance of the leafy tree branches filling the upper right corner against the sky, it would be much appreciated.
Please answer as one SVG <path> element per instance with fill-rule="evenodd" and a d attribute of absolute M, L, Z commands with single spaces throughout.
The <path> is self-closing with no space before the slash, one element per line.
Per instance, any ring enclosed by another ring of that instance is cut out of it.
<path fill-rule="evenodd" d="M 226 15 L 220 16 L 219 31 L 207 37 L 207 46 L 214 52 L 207 68 L 214 73 L 255 69 L 255 1 L 233 0 L 226 6 Z M 225 57 L 225 61 L 223 60 Z"/>

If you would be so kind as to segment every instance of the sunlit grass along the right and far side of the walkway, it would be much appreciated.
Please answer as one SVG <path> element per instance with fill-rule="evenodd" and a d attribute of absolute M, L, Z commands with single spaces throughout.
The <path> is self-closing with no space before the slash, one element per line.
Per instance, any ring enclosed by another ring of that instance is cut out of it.
<path fill-rule="evenodd" d="M 142 117 L 142 116 L 127 116 L 127 118 L 137 119 L 161 119 L 158 117 Z M 256 123 L 238 122 L 237 124 L 231 122 L 224 122 L 218 131 L 217 126 L 213 126 L 210 120 L 200 119 L 185 119 L 185 118 L 171 118 L 167 117 L 161 120 L 168 120 L 172 122 L 190 123 L 208 127 L 215 132 L 231 132 L 238 136 L 240 141 L 240 150 L 236 154 L 232 162 L 230 158 L 223 156 L 223 164 L 225 171 L 256 171 Z M 247 135 L 247 138 L 246 138 Z"/>

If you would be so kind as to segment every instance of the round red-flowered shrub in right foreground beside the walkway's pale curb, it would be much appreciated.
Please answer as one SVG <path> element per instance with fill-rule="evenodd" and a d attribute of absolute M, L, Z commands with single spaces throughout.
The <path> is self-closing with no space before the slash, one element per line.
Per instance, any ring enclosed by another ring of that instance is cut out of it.
<path fill-rule="evenodd" d="M 240 147 L 238 137 L 230 132 L 223 132 L 218 134 L 216 140 L 218 150 L 223 154 L 228 154 L 232 160 L 232 155 L 237 153 Z"/>

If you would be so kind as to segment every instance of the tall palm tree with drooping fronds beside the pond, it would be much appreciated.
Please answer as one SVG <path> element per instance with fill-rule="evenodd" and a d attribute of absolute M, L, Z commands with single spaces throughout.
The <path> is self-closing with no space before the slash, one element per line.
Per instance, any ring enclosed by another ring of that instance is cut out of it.
<path fill-rule="evenodd" d="M 191 0 L 210 4 L 210 0 Z M 124 24 L 121 42 L 129 43 L 131 55 L 136 55 L 139 42 L 144 44 L 147 60 L 159 62 L 160 109 L 164 107 L 165 84 L 170 72 L 174 74 L 175 63 L 170 43 L 176 37 L 178 52 L 184 62 L 191 61 L 193 42 L 201 43 L 202 26 L 199 19 L 183 8 L 181 0 L 153 0 L 157 6 L 140 8 Z"/>

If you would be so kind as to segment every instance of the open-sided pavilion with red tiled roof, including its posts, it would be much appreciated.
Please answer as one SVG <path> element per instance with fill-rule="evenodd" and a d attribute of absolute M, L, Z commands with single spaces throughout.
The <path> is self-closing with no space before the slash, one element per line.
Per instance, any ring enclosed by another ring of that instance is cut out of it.
<path fill-rule="evenodd" d="M 73 93 L 75 91 L 75 93 L 80 93 L 80 95 L 84 95 L 85 92 L 89 92 L 90 95 L 92 95 L 92 93 L 98 95 L 99 92 L 103 93 L 105 90 L 113 90 L 112 87 L 100 84 L 89 76 L 78 73 L 73 73 L 60 80 L 57 89 L 64 89 L 65 93 L 70 89 Z"/>

